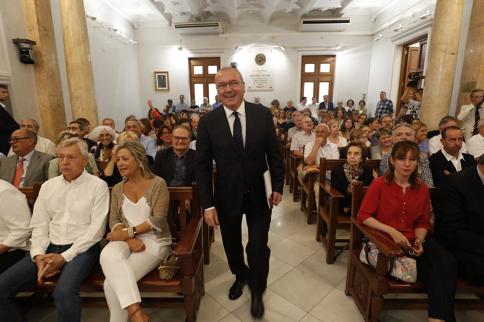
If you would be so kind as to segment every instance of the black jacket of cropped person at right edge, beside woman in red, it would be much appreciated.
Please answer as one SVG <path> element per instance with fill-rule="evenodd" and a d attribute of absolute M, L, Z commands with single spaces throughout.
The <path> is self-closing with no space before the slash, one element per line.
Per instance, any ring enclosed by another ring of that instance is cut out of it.
<path fill-rule="evenodd" d="M 483 284 L 484 184 L 477 171 L 472 166 L 444 176 L 432 195 L 432 207 L 437 242 L 457 258 L 461 277 Z"/>

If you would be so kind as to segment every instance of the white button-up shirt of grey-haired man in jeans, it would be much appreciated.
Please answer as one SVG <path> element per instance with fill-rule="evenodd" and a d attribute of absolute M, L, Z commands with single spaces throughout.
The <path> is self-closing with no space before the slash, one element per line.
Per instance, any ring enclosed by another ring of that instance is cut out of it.
<path fill-rule="evenodd" d="M 109 212 L 106 182 L 87 173 L 68 182 L 64 176 L 44 182 L 33 208 L 30 256 L 44 255 L 49 244 L 69 245 L 67 262 L 103 238 Z"/>

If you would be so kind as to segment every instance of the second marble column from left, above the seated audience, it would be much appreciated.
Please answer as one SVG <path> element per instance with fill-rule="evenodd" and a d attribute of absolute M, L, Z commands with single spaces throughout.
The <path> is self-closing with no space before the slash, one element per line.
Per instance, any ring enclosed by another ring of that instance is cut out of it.
<path fill-rule="evenodd" d="M 94 75 L 92 73 L 86 13 L 83 0 L 60 0 L 64 55 L 72 117 L 88 119 L 98 126 Z"/>

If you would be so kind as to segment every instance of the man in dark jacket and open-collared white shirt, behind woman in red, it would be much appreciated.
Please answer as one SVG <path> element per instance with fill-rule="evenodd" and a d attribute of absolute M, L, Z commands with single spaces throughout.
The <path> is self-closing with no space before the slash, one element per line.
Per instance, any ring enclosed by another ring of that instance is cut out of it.
<path fill-rule="evenodd" d="M 476 165 L 472 154 L 460 152 L 463 140 L 464 134 L 457 126 L 448 126 L 442 130 L 440 143 L 443 144 L 443 148 L 428 158 L 435 186 L 449 173 Z"/>

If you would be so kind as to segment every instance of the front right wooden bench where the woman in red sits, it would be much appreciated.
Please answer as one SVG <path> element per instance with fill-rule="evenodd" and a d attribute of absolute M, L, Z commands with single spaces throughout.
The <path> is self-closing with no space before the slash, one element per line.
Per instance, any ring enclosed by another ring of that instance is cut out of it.
<path fill-rule="evenodd" d="M 388 310 L 426 310 L 426 298 L 383 298 L 386 294 L 426 294 L 427 285 L 421 280 L 407 283 L 387 275 L 390 258 L 404 256 L 404 252 L 392 240 L 386 238 L 377 229 L 358 224 L 357 214 L 360 210 L 367 187 L 363 182 L 353 184 L 351 233 L 349 245 L 348 273 L 346 295 L 352 295 L 356 306 L 366 322 L 378 322 L 382 309 Z M 432 193 L 434 188 L 429 188 Z M 378 248 L 376 270 L 360 261 L 362 238 L 366 236 Z M 483 294 L 484 287 L 472 285 L 465 280 L 457 280 L 457 294 Z M 455 299 L 455 310 L 482 310 L 484 299 Z"/>

